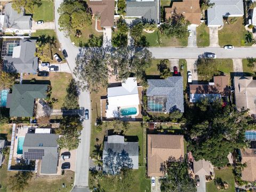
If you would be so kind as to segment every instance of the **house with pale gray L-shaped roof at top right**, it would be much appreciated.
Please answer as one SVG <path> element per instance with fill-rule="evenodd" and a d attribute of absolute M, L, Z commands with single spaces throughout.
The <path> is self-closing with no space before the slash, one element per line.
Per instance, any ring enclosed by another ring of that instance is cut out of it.
<path fill-rule="evenodd" d="M 211 0 L 214 5 L 207 9 L 207 26 L 220 27 L 223 17 L 243 17 L 243 0 Z"/>

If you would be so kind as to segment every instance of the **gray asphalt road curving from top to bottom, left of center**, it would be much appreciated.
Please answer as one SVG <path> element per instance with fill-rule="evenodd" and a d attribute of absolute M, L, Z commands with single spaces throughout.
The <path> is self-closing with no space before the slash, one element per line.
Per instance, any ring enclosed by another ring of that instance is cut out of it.
<path fill-rule="evenodd" d="M 63 0 L 56 0 L 54 5 L 54 15 L 55 15 L 55 26 L 57 37 L 60 42 L 61 49 L 66 49 L 68 58 L 67 62 L 70 67 L 70 70 L 73 72 L 75 68 L 75 58 L 79 52 L 79 48 L 75 47 L 70 38 L 65 37 L 63 31 L 59 30 L 58 20 L 59 14 L 57 12 L 58 7 L 63 2 Z M 72 74 L 73 75 L 73 74 Z M 76 79 L 76 77 L 73 75 Z M 80 108 L 89 109 L 91 111 L 91 99 L 90 93 L 87 91 L 81 91 L 79 94 L 79 106 Z M 74 191 L 90 191 L 88 187 L 88 177 L 89 177 L 89 154 L 90 154 L 90 140 L 91 140 L 91 115 L 89 114 L 90 119 L 84 120 L 83 130 L 81 132 L 81 142 L 77 148 L 77 157 L 76 157 L 76 172 L 75 172 L 75 182 L 73 189 Z M 78 188 L 77 188 L 78 187 Z"/>

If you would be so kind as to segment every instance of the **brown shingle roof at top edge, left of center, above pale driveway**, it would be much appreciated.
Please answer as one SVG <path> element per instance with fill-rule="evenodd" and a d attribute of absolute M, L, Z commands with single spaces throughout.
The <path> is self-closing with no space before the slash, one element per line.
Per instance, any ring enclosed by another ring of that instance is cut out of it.
<path fill-rule="evenodd" d="M 115 14 L 114 0 L 89 1 L 88 5 L 91 8 L 93 14 L 100 13 L 101 27 L 114 26 L 114 14 Z"/>

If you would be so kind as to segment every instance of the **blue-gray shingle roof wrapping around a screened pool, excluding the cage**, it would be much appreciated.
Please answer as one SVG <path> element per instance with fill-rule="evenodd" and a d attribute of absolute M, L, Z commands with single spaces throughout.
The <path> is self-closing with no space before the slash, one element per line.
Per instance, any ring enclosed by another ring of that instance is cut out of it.
<path fill-rule="evenodd" d="M 183 77 L 173 76 L 166 79 L 148 79 L 147 96 L 167 97 L 166 112 L 179 109 L 184 112 Z"/>

